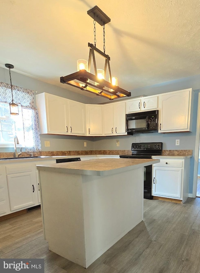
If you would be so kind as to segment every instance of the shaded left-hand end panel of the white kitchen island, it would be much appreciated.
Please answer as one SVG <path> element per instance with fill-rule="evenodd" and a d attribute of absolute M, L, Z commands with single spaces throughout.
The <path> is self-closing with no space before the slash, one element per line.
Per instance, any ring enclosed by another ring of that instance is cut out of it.
<path fill-rule="evenodd" d="M 49 250 L 86 267 L 82 176 L 40 170 L 39 177 Z"/>

